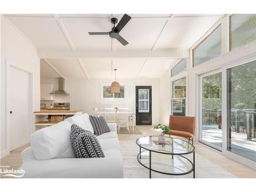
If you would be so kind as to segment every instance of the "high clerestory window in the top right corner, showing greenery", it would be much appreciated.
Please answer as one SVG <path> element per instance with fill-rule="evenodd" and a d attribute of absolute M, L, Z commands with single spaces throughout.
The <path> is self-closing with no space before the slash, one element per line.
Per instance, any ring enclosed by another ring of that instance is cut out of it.
<path fill-rule="evenodd" d="M 230 16 L 230 51 L 256 40 L 256 14 Z"/>

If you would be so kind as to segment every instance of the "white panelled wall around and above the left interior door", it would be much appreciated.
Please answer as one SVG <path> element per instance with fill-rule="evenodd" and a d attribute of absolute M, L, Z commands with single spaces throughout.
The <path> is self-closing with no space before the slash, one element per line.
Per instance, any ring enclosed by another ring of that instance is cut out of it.
<path fill-rule="evenodd" d="M 40 61 L 37 50 L 1 15 L 1 158 L 6 152 L 6 59 L 33 73 L 33 110 L 40 109 Z M 15 77 L 12 77 L 15 78 Z M 17 79 L 18 80 L 18 79 Z M 22 112 L 22 109 L 20 109 Z"/>

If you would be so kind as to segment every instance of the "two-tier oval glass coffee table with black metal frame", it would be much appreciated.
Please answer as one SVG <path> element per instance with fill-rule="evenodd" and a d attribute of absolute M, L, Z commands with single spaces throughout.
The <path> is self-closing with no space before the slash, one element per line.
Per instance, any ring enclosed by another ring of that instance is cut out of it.
<path fill-rule="evenodd" d="M 160 174 L 185 175 L 194 172 L 195 178 L 195 146 L 187 141 L 173 137 L 165 137 L 165 144 L 158 144 L 158 136 L 138 138 L 140 147 L 138 162 L 145 168 Z M 144 151 L 141 151 L 141 148 Z M 193 153 L 193 162 L 185 155 Z"/>

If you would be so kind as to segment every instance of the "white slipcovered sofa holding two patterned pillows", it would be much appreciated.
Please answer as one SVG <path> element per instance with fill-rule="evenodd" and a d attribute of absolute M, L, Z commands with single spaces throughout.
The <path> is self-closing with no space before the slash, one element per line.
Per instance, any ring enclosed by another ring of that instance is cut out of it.
<path fill-rule="evenodd" d="M 108 123 L 111 132 L 97 136 L 104 158 L 75 158 L 70 127 L 77 124 L 93 131 L 87 114 L 75 115 L 34 132 L 31 146 L 22 152 L 25 178 L 122 178 L 123 163 L 117 139 L 116 123 Z"/>

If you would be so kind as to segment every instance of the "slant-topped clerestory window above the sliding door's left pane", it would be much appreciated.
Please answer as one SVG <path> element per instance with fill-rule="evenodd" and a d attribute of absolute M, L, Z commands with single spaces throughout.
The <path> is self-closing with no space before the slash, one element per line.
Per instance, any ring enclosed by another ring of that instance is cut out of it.
<path fill-rule="evenodd" d="M 221 55 L 221 25 L 193 49 L 193 67 Z"/>

